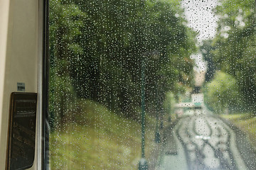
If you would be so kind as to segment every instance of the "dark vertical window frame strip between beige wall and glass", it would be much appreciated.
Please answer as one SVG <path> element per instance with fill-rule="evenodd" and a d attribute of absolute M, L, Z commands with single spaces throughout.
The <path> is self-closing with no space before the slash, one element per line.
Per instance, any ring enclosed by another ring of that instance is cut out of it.
<path fill-rule="evenodd" d="M 49 167 L 49 115 L 48 115 L 48 89 L 49 89 L 49 54 L 48 54 L 48 0 L 39 0 L 38 16 L 38 155 L 37 169 L 47 170 Z"/>

